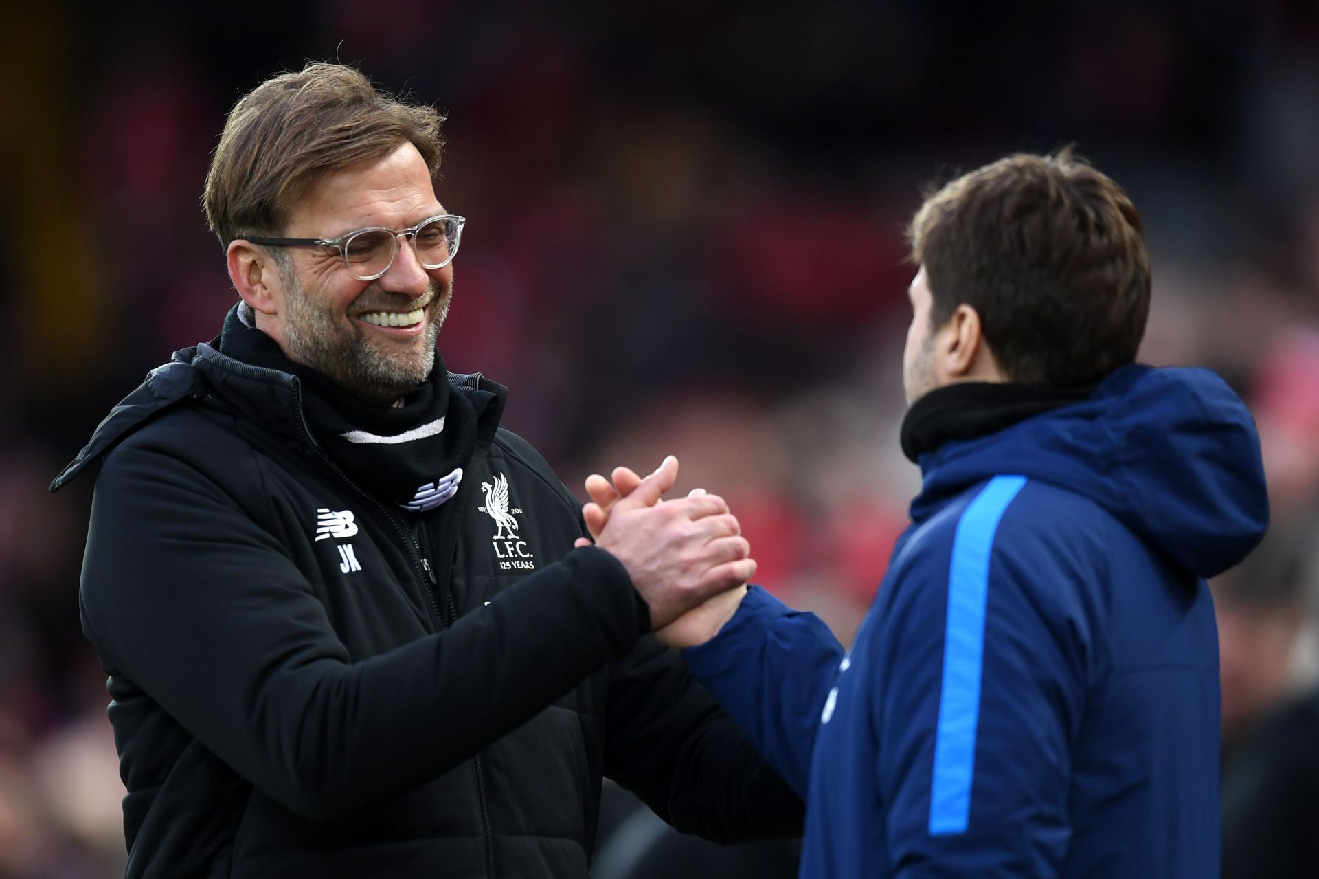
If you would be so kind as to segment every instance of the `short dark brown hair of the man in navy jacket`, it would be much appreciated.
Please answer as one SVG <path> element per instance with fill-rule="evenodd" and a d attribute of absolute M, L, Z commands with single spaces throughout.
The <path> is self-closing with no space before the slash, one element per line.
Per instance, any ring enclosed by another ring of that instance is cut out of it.
<path fill-rule="evenodd" d="M 1070 149 L 959 177 L 926 198 L 907 235 L 931 327 L 973 308 L 1009 380 L 1084 385 L 1136 360 L 1150 301 L 1141 215 Z"/>

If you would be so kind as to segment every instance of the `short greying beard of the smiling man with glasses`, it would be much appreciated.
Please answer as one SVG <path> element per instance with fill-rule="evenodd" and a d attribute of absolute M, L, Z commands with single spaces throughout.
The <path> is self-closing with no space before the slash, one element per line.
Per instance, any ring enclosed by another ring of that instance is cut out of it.
<path fill-rule="evenodd" d="M 393 405 L 425 381 L 435 368 L 435 341 L 448 315 L 454 284 L 445 290 L 431 281 L 426 343 L 419 356 L 386 355 L 376 350 L 367 331 L 353 318 L 331 314 L 307 294 L 293 267 L 280 267 L 288 309 L 284 323 L 285 354 L 294 363 L 311 367 L 344 391 L 379 405 Z M 394 305 L 410 306 L 414 300 L 398 294 Z M 388 302 L 383 304 L 389 308 Z M 347 323 L 346 323 L 347 322 Z"/>

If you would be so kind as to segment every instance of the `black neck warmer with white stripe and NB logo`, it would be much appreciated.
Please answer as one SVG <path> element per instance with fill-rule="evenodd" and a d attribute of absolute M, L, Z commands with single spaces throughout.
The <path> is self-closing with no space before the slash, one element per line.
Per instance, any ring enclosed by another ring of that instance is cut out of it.
<path fill-rule="evenodd" d="M 430 375 L 402 405 L 367 403 L 290 360 L 240 311 L 245 311 L 241 305 L 224 318 L 220 352 L 297 376 L 307 426 L 353 483 L 413 511 L 433 509 L 458 491 L 476 447 L 477 412 L 467 396 L 450 388 L 439 352 Z"/>

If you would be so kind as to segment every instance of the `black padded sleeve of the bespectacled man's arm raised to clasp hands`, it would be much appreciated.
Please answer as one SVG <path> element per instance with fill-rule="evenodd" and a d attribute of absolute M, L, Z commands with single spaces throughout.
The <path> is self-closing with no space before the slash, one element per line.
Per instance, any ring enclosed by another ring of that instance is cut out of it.
<path fill-rule="evenodd" d="M 82 602 L 107 670 L 310 820 L 458 765 L 627 655 L 641 628 L 627 571 L 584 548 L 452 628 L 355 663 L 277 540 L 144 443 L 102 470 Z"/>

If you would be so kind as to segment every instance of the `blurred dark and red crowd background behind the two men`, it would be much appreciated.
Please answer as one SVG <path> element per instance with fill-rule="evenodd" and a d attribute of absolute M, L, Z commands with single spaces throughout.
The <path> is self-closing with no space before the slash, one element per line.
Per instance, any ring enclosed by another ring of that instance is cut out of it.
<path fill-rule="evenodd" d="M 448 115 L 438 194 L 468 224 L 447 366 L 508 384 L 506 424 L 579 494 L 677 453 L 758 579 L 844 641 L 918 487 L 902 227 L 931 181 L 1078 144 L 1145 216 L 1142 359 L 1219 371 L 1264 441 L 1273 531 L 1213 585 L 1227 875 L 1319 872 L 1319 4 L 5 7 L 0 876 L 123 870 L 78 622 L 92 480 L 46 484 L 146 370 L 218 334 L 236 294 L 199 207 L 210 150 L 306 59 Z M 608 797 L 605 879 L 777 875 Z M 658 871 L 666 846 L 687 866 Z"/>

